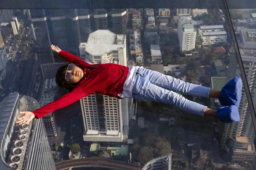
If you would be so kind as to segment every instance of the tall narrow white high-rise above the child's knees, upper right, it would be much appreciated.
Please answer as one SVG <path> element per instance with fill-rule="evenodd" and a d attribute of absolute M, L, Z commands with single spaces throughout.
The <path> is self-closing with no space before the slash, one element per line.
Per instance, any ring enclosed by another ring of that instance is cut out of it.
<path fill-rule="evenodd" d="M 191 51 L 195 48 L 196 30 L 192 24 L 191 14 L 178 15 L 178 37 L 180 51 Z"/>

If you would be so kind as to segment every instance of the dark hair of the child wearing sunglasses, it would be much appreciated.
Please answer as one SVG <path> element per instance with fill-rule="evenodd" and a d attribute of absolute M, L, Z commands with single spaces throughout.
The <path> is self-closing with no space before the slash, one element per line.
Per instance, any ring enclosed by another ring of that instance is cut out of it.
<path fill-rule="evenodd" d="M 68 91 L 72 91 L 76 85 L 78 84 L 77 83 L 68 83 L 67 80 L 65 79 L 65 75 L 66 75 L 66 72 L 67 72 L 67 65 L 62 65 L 60 68 L 58 68 L 58 71 L 56 73 L 56 84 L 58 86 L 58 88 L 64 88 L 64 89 L 67 89 Z"/>

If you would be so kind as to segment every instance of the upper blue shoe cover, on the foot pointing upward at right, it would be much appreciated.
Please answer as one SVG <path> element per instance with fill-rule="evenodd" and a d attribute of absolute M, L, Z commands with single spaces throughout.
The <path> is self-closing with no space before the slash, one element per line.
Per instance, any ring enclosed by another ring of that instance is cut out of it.
<path fill-rule="evenodd" d="M 221 106 L 236 105 L 239 108 L 241 93 L 242 93 L 242 79 L 240 77 L 235 77 L 221 89 L 221 94 L 219 96 L 219 102 Z"/>

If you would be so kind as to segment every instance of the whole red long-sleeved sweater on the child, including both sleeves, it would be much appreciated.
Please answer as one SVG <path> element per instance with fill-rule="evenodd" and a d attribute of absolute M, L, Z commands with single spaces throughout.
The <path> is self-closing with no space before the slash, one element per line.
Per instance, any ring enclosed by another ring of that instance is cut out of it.
<path fill-rule="evenodd" d="M 118 64 L 92 64 L 85 62 L 64 50 L 58 54 L 69 63 L 79 66 L 84 72 L 84 77 L 70 93 L 59 99 L 33 111 L 35 118 L 39 119 L 48 113 L 76 102 L 90 94 L 101 93 L 107 96 L 119 98 L 122 93 L 129 68 Z M 120 99 L 120 98 L 119 98 Z"/>

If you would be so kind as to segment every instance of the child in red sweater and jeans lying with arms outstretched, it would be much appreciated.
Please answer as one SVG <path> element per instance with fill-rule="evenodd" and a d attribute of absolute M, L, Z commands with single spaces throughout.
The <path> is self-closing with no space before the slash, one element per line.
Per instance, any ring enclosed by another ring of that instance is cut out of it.
<path fill-rule="evenodd" d="M 19 125 L 28 124 L 33 118 L 40 119 L 56 109 L 63 108 L 82 97 L 95 93 L 118 99 L 133 97 L 142 101 L 164 102 L 183 111 L 201 116 L 212 116 L 226 123 L 240 121 L 238 113 L 242 88 L 240 77 L 230 80 L 221 91 L 217 91 L 143 67 L 126 67 L 112 63 L 90 65 L 55 45 L 51 45 L 51 49 L 70 63 L 61 66 L 56 74 L 58 87 L 68 89 L 70 93 L 33 112 L 19 112 L 23 114 L 22 117 L 17 117 L 16 123 Z M 218 98 L 222 107 L 213 110 L 189 101 L 175 92 L 205 98 Z"/>

